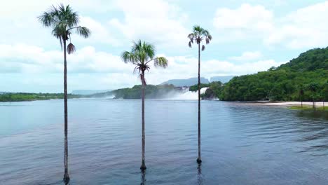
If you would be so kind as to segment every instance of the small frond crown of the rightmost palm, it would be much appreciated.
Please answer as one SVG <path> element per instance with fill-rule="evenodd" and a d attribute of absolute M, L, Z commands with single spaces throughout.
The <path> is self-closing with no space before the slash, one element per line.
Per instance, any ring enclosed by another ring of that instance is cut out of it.
<path fill-rule="evenodd" d="M 191 44 L 195 41 L 197 44 L 203 43 L 205 40 L 205 43 L 208 44 L 212 40 L 212 35 L 210 32 L 208 32 L 206 29 L 203 29 L 200 26 L 194 26 L 193 32 L 188 35 L 189 41 L 189 47 L 191 48 Z M 203 44 L 202 50 L 205 50 L 205 45 Z"/>

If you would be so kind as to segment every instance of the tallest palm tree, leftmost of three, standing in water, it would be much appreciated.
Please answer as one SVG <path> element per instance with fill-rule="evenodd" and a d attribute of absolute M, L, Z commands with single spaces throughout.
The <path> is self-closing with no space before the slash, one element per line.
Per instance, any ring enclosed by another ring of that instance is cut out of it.
<path fill-rule="evenodd" d="M 75 51 L 71 43 L 71 34 L 75 32 L 84 38 L 90 36 L 90 30 L 78 25 L 78 14 L 69 5 L 51 6 L 48 11 L 38 17 L 39 22 L 45 27 L 51 27 L 52 34 L 60 40 L 60 46 L 64 48 L 64 181 L 69 181 L 68 174 L 68 144 L 67 144 L 67 60 L 66 53 Z M 69 41 L 68 46 L 66 46 Z"/>

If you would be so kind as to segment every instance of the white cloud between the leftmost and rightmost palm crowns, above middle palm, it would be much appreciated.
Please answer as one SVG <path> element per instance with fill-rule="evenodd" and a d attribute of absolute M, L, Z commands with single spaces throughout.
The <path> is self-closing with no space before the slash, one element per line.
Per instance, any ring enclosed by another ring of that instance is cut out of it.
<path fill-rule="evenodd" d="M 116 7 L 124 18 L 113 18 L 109 25 L 118 29 L 129 42 L 144 39 L 170 48 L 186 46 L 188 29 L 184 22 L 187 15 L 177 6 L 162 0 L 120 0 L 116 1 Z"/>

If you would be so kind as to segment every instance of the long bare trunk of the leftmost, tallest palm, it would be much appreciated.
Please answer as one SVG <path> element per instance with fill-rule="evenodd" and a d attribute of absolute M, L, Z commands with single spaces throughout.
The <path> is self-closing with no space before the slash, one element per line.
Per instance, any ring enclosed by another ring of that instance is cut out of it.
<path fill-rule="evenodd" d="M 67 60 L 66 60 L 66 39 L 64 43 L 64 181 L 69 181 L 68 174 L 68 142 L 67 142 Z"/>

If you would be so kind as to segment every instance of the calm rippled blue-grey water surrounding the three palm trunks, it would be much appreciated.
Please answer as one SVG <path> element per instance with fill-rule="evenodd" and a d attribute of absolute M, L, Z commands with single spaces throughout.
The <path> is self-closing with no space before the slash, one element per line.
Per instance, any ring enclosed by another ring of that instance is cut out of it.
<path fill-rule="evenodd" d="M 0 103 L 0 184 L 63 184 L 62 100 Z M 280 107 L 69 100 L 70 184 L 328 184 L 328 116 Z"/>

